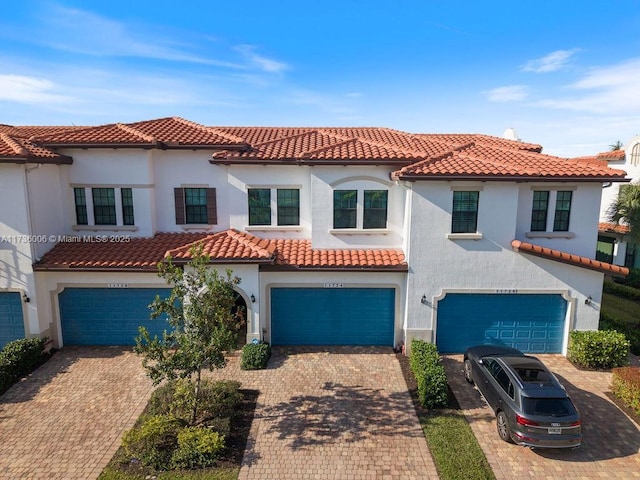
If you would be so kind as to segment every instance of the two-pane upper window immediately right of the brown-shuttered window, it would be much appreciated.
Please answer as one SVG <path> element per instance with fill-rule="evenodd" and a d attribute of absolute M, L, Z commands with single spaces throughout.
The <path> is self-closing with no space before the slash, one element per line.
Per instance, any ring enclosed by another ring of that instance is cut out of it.
<path fill-rule="evenodd" d="M 272 195 L 275 192 L 275 195 Z M 250 188 L 249 225 L 300 225 L 300 190 L 298 188 Z M 272 199 L 275 198 L 275 204 Z"/>

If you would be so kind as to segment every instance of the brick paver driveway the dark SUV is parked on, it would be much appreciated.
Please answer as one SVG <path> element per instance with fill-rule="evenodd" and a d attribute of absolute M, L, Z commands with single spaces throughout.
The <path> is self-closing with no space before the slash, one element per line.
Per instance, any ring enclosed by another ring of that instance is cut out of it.
<path fill-rule="evenodd" d="M 580 409 L 584 441 L 574 450 L 531 450 L 498 438 L 493 411 L 462 373 L 462 356 L 445 356 L 447 378 L 498 480 L 640 478 L 640 429 L 606 393 L 610 372 L 576 369 L 560 355 L 537 355 Z"/>

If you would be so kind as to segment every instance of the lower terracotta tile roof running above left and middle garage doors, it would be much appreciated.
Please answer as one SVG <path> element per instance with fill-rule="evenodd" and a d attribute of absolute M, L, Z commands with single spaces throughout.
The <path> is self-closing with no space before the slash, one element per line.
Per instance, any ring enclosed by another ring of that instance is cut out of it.
<path fill-rule="evenodd" d="M 199 242 L 212 263 L 259 263 L 271 269 L 407 270 L 401 250 L 320 250 L 311 248 L 309 240 L 263 239 L 233 229 L 214 234 L 157 233 L 151 238 L 131 238 L 124 243 L 60 242 L 33 268 L 155 271 L 158 262 L 169 255 L 176 263 L 186 263 L 191 247 Z"/>

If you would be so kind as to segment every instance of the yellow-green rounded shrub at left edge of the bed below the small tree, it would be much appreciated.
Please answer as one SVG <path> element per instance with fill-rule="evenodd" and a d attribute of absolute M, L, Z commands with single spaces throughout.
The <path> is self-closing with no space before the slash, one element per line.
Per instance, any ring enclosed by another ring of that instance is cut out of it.
<path fill-rule="evenodd" d="M 171 415 L 153 415 L 125 433 L 122 447 L 129 458 L 156 470 L 166 470 L 178 446 L 178 434 L 184 422 Z"/>

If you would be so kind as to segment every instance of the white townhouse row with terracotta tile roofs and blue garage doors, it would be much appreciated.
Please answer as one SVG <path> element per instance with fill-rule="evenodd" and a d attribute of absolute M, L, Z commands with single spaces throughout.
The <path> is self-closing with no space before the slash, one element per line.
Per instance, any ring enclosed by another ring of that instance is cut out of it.
<path fill-rule="evenodd" d="M 596 329 L 603 185 L 625 172 L 486 135 L 0 126 L 0 342 L 130 344 L 204 242 L 247 341 L 566 352 Z M 155 321 L 156 331 L 161 323 Z"/>

